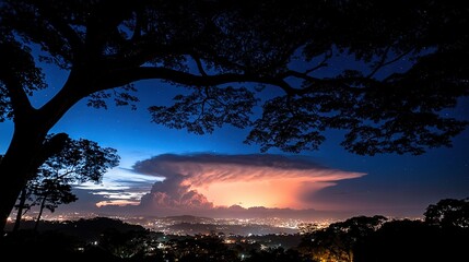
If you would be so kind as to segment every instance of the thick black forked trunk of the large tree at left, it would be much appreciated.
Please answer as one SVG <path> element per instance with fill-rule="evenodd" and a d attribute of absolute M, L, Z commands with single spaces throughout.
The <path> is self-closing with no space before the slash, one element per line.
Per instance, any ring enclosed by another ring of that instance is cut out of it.
<path fill-rule="evenodd" d="M 11 85 L 9 95 L 15 102 L 14 132 L 0 162 L 0 233 L 4 230 L 7 219 L 26 182 L 49 156 L 63 148 L 67 134 L 56 134 L 48 143 L 45 143 L 45 139 L 49 130 L 75 103 L 92 93 L 79 88 L 90 86 L 86 73 L 87 71 L 84 75 L 70 72 L 62 90 L 39 109 L 31 106 L 17 81 L 8 82 Z"/>

